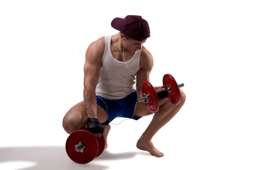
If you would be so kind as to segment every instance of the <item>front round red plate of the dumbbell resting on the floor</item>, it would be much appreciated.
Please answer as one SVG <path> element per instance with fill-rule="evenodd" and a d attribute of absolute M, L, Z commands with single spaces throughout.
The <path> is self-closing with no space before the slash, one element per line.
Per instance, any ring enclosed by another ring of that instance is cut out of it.
<path fill-rule="evenodd" d="M 66 153 L 74 162 L 86 164 L 96 157 L 98 153 L 98 141 L 96 137 L 88 131 L 75 131 L 67 138 Z"/>

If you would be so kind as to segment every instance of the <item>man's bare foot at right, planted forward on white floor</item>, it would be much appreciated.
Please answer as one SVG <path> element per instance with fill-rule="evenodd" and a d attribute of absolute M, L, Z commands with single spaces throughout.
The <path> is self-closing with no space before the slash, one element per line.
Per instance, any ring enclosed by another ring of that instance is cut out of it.
<path fill-rule="evenodd" d="M 156 157 L 162 157 L 163 153 L 157 150 L 155 148 L 154 144 L 151 142 L 151 140 L 143 140 L 143 138 L 140 137 L 137 142 L 137 148 L 143 151 L 148 151 L 150 154 Z"/>

